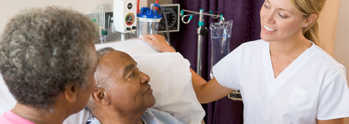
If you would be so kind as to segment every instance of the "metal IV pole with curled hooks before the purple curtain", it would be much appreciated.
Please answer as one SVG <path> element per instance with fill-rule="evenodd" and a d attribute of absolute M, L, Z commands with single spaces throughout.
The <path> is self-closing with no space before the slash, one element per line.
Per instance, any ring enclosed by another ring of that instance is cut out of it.
<path fill-rule="evenodd" d="M 185 12 L 191 12 L 192 14 L 186 14 L 184 15 L 184 11 Z M 203 36 L 207 35 L 208 29 L 206 27 L 203 27 L 203 15 L 208 15 L 208 16 L 212 16 L 212 18 L 216 19 L 218 17 L 221 17 L 221 20 L 224 22 L 224 17 L 219 15 L 214 15 L 211 13 L 211 11 L 209 12 L 203 12 L 203 9 L 200 9 L 199 12 L 196 11 L 190 11 L 190 10 L 185 10 L 182 9 L 180 11 L 180 17 L 181 20 L 184 24 L 188 24 L 192 18 L 193 15 L 199 15 L 199 21 L 198 21 L 198 28 L 196 29 L 196 33 L 197 33 L 197 57 L 196 57 L 196 73 L 201 76 L 202 75 L 202 38 Z M 184 21 L 184 17 L 189 16 L 189 20 L 187 22 Z"/>

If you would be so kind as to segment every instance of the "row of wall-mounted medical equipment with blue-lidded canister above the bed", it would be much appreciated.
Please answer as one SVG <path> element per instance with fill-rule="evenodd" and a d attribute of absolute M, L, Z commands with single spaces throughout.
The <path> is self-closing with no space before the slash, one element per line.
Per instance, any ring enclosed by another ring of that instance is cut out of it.
<path fill-rule="evenodd" d="M 99 13 L 88 14 L 99 28 L 99 39 L 94 43 L 136 39 L 143 34 L 158 34 L 161 29 L 167 32 L 167 41 L 171 45 L 170 32 L 179 31 L 179 4 L 162 7 L 152 3 L 150 7 L 138 10 L 139 3 L 136 4 L 136 0 L 114 0 L 113 8 L 110 4 L 99 5 Z M 141 6 L 147 4 L 141 3 Z"/>

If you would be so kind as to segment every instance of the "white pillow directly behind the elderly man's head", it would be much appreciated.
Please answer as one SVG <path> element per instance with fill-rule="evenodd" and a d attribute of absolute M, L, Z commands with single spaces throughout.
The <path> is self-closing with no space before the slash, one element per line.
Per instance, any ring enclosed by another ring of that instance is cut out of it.
<path fill-rule="evenodd" d="M 137 67 L 150 76 L 156 104 L 188 124 L 200 124 L 205 111 L 197 101 L 191 84 L 190 63 L 179 53 L 155 53 L 132 56 Z"/>

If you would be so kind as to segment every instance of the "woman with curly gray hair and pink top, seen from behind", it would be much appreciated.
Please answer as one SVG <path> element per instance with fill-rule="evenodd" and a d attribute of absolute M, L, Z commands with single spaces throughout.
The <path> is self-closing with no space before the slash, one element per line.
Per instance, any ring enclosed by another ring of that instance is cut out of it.
<path fill-rule="evenodd" d="M 60 7 L 17 14 L 0 38 L 0 71 L 15 107 L 5 124 L 62 124 L 82 110 L 95 87 L 96 27 L 79 12 Z"/>

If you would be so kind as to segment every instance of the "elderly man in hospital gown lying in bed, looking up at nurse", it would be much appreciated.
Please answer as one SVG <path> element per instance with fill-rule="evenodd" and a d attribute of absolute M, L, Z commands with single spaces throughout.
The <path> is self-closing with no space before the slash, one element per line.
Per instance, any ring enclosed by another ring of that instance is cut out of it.
<path fill-rule="evenodd" d="M 97 51 L 96 88 L 87 109 L 87 124 L 186 124 L 151 107 L 155 105 L 150 77 L 128 54 L 112 48 Z"/>

